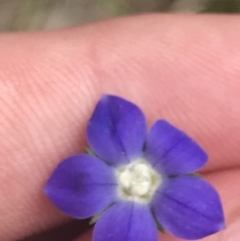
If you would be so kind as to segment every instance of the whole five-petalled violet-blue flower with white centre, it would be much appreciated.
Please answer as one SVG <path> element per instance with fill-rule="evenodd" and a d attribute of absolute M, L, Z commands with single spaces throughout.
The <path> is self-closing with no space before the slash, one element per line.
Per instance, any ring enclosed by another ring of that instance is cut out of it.
<path fill-rule="evenodd" d="M 94 241 L 156 241 L 157 224 L 184 239 L 224 228 L 217 192 L 192 175 L 207 155 L 184 132 L 158 120 L 147 133 L 136 105 L 104 95 L 87 139 L 95 155 L 64 160 L 44 192 L 69 216 L 98 215 Z"/>

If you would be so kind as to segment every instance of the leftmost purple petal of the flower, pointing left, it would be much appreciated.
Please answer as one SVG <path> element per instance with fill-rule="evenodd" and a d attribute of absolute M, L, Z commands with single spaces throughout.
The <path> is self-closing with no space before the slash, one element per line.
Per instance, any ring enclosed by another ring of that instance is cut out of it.
<path fill-rule="evenodd" d="M 69 216 L 91 217 L 116 198 L 113 171 L 112 167 L 95 157 L 72 156 L 58 165 L 44 187 L 44 192 Z"/>

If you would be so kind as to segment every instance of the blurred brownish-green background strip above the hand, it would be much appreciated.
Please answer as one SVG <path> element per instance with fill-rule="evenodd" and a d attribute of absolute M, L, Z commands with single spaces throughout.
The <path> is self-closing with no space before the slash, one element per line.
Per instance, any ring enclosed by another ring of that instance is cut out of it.
<path fill-rule="evenodd" d="M 56 29 L 147 12 L 240 13 L 240 0 L 0 0 L 0 32 Z"/>

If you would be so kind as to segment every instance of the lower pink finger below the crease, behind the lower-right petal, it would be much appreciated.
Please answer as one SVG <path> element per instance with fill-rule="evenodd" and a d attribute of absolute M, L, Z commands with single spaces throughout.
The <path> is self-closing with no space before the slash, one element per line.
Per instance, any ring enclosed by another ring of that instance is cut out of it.
<path fill-rule="evenodd" d="M 240 204 L 239 195 L 240 189 L 237 185 L 232 185 L 234 182 L 240 181 L 240 171 L 223 171 L 216 174 L 210 174 L 206 176 L 207 180 L 210 181 L 215 188 L 218 190 L 226 215 L 226 229 L 222 230 L 217 234 L 213 234 L 204 239 L 204 241 L 236 241 L 240 238 Z M 159 204 L 161 205 L 161 204 Z M 187 224 L 186 224 L 187 225 Z M 106 231 L 107 232 L 107 231 Z M 92 240 L 92 230 L 86 231 L 84 234 L 80 235 L 75 241 L 91 241 Z M 162 234 L 159 233 L 159 240 L 161 241 L 180 241 L 183 239 L 178 239 L 173 237 L 169 233 Z"/>

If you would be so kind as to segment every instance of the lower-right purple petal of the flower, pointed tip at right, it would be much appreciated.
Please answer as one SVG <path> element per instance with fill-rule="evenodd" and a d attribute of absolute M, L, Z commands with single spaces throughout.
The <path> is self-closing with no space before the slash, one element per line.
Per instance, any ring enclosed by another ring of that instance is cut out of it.
<path fill-rule="evenodd" d="M 151 205 L 162 226 L 179 238 L 200 239 L 224 228 L 217 192 L 198 177 L 166 180 Z"/>

